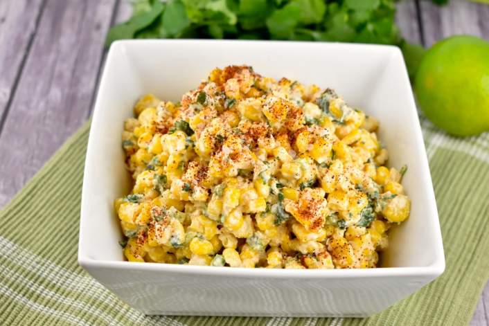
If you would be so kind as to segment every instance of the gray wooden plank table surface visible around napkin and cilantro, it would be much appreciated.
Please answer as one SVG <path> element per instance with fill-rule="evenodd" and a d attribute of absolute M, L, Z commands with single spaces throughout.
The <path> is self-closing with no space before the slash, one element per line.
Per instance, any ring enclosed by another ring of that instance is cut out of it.
<path fill-rule="evenodd" d="M 0 1 L 0 207 L 89 118 L 112 24 L 126 0 Z M 450 1 L 398 3 L 411 42 L 430 46 L 454 34 L 489 39 L 489 6 Z M 489 325 L 489 284 L 471 325 Z"/>

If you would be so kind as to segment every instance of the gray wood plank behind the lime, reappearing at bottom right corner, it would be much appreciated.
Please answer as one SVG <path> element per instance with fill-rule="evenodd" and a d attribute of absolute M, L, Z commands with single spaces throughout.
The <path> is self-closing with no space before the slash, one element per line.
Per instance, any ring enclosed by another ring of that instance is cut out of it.
<path fill-rule="evenodd" d="M 425 43 L 431 46 L 450 35 L 478 35 L 489 40 L 489 6 L 469 1 L 450 1 L 438 7 L 430 1 L 420 1 Z M 477 304 L 470 325 L 489 325 L 489 282 Z"/>

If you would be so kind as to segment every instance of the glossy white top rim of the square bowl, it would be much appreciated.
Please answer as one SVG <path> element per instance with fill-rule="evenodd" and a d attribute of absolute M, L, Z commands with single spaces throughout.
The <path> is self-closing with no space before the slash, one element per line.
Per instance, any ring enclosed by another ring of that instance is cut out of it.
<path fill-rule="evenodd" d="M 404 84 L 402 87 L 409 88 L 409 107 L 411 114 L 416 115 L 416 123 L 414 125 L 414 136 L 420 139 L 423 144 L 423 149 L 416 148 L 416 152 L 420 154 L 422 160 L 420 165 L 423 165 L 423 170 L 427 169 L 427 176 L 429 178 L 429 185 L 426 185 L 430 197 L 429 201 L 431 205 L 434 205 L 435 214 L 431 215 L 430 218 L 434 219 L 434 230 L 432 234 L 436 237 L 435 239 L 435 257 L 431 264 L 423 266 L 404 266 L 404 267 L 378 267 L 375 269 L 247 269 L 247 268 L 229 268 L 228 266 L 193 266 L 193 265 L 180 265 L 180 264 L 164 264 L 164 263 L 149 263 L 148 262 L 128 262 L 128 261 L 117 261 L 117 260 L 94 260 L 83 251 L 82 244 L 87 241 L 87 236 L 84 233 L 83 220 L 84 220 L 84 206 L 87 203 L 87 196 L 85 195 L 86 181 L 90 178 L 87 174 L 89 167 L 90 156 L 94 149 L 94 139 L 92 135 L 92 129 L 89 132 L 89 141 L 87 145 L 87 156 L 85 158 L 85 169 L 83 176 L 83 187 L 82 187 L 82 201 L 81 201 L 81 212 L 80 212 L 80 231 L 79 231 L 79 243 L 78 243 L 78 264 L 84 269 L 91 268 L 106 268 L 114 270 L 136 270 L 136 271 L 154 271 L 154 272 L 168 272 L 168 273 L 181 273 L 181 274 L 200 274 L 200 275 L 227 275 L 235 277 L 249 277 L 249 278 L 358 278 L 358 277 L 390 277 L 390 276 L 432 276 L 436 277 L 441 275 L 445 271 L 445 254 L 443 251 L 443 242 L 441 239 L 441 228 L 438 219 L 438 212 L 436 209 L 436 201 L 434 199 L 434 189 L 432 186 L 432 177 L 429 171 L 429 165 L 427 161 L 426 150 L 423 142 L 423 134 L 421 131 L 418 114 L 416 110 L 416 104 L 414 101 L 413 92 L 411 90 L 411 84 L 409 82 L 409 77 L 407 74 L 407 69 L 402 57 L 402 53 L 398 46 L 386 45 L 386 44 L 357 44 L 357 43 L 346 43 L 346 42 L 303 42 L 303 41 L 279 41 L 279 40 L 229 40 L 229 39 L 125 39 L 113 42 L 107 53 L 107 60 L 104 65 L 103 73 L 100 77 L 100 83 L 98 84 L 98 90 L 96 95 L 96 101 L 94 102 L 94 112 L 91 122 L 91 128 L 97 128 L 100 120 L 100 98 L 105 91 L 105 80 L 107 79 L 107 67 L 112 64 L 113 57 L 115 53 L 120 52 L 126 46 L 141 46 L 143 44 L 157 44 L 157 45 L 168 45 L 168 44 L 237 44 L 246 43 L 247 46 L 254 46 L 258 44 L 284 44 L 286 46 L 301 46 L 303 44 L 308 44 L 308 46 L 335 46 L 337 48 L 378 48 L 386 53 L 391 53 L 400 58 L 399 64 L 401 64 L 402 78 Z M 171 46 L 171 45 L 170 45 Z"/>

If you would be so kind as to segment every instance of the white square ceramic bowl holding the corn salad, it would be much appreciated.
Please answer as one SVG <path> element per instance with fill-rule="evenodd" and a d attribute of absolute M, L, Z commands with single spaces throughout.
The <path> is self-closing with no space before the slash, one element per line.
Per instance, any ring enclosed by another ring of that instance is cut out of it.
<path fill-rule="evenodd" d="M 377 269 L 278 270 L 126 262 L 113 201 L 130 190 L 121 131 L 143 93 L 177 101 L 211 69 L 332 87 L 380 120 L 390 164 L 409 166 L 411 217 L 391 232 Z M 445 269 L 438 213 L 411 86 L 393 46 L 310 42 L 132 40 L 112 44 L 96 99 L 82 192 L 78 262 L 145 314 L 369 316 Z"/>

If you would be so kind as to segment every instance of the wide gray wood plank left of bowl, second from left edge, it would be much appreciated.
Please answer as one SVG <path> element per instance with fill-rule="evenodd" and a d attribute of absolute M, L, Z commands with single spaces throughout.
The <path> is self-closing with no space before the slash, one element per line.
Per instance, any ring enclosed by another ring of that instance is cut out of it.
<path fill-rule="evenodd" d="M 46 1 L 0 134 L 0 206 L 86 120 L 115 3 Z"/>

